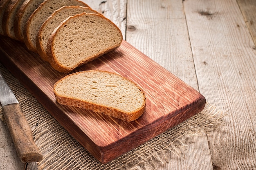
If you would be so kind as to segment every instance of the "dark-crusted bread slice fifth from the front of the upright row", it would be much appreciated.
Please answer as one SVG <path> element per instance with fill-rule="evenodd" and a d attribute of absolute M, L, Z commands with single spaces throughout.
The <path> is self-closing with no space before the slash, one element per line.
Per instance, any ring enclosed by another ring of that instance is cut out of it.
<path fill-rule="evenodd" d="M 3 31 L 8 37 L 15 40 L 17 40 L 17 38 L 15 37 L 15 34 L 14 34 L 13 22 L 14 22 L 14 18 L 17 10 L 20 8 L 20 6 L 24 1 L 25 0 L 11 0 L 9 2 L 8 7 L 4 11 L 4 15 L 3 15 L 3 20 L 2 20 Z"/>

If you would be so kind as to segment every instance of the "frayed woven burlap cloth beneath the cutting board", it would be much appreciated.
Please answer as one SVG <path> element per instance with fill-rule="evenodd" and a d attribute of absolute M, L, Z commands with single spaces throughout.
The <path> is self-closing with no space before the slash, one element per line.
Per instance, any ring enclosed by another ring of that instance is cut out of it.
<path fill-rule="evenodd" d="M 224 124 L 224 114 L 207 104 L 201 113 L 171 128 L 145 144 L 107 164 L 102 164 L 83 148 L 52 115 L 1 64 L 9 84 L 32 129 L 34 140 L 44 159 L 28 163 L 28 170 L 151 170 L 168 163 L 189 147 L 189 137 L 202 135 Z M 2 107 L 0 118 L 4 121 Z M 136 141 L 135 141 L 136 142 Z"/>

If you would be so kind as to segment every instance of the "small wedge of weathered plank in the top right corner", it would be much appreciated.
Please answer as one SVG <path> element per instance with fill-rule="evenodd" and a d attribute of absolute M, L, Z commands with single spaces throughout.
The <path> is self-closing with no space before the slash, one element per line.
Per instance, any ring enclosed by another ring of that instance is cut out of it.
<path fill-rule="evenodd" d="M 237 2 L 256 46 L 256 0 L 237 0 Z"/>

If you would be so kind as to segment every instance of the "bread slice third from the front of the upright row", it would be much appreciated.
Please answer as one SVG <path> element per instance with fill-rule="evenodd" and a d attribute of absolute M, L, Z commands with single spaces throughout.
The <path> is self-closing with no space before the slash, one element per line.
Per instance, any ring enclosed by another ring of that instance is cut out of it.
<path fill-rule="evenodd" d="M 89 7 L 79 0 L 45 0 L 31 14 L 24 29 L 24 42 L 30 51 L 36 51 L 36 36 L 43 22 L 57 9 L 63 6 L 83 6 Z"/>

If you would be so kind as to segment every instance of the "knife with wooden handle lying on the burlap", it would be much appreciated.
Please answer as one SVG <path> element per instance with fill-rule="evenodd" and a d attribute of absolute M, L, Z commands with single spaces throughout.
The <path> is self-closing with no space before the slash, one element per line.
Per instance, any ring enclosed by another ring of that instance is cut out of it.
<path fill-rule="evenodd" d="M 23 163 L 41 161 L 43 155 L 36 147 L 31 128 L 22 112 L 22 107 L 2 77 L 1 72 L 0 102 L 4 119 L 11 133 L 20 160 Z"/>

